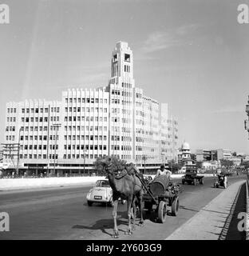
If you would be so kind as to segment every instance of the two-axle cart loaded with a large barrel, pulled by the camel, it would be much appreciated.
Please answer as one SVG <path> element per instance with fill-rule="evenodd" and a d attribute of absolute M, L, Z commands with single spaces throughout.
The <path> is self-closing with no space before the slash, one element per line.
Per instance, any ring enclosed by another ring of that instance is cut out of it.
<path fill-rule="evenodd" d="M 180 186 L 170 182 L 167 176 L 157 176 L 144 186 L 143 195 L 144 210 L 152 213 L 155 210 L 160 223 L 164 223 L 167 217 L 168 207 L 171 207 L 172 216 L 176 216 L 179 210 Z"/>

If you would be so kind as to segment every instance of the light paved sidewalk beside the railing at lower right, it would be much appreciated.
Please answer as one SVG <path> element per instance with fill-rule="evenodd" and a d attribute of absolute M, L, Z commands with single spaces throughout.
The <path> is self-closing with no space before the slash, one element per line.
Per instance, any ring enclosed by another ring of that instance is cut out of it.
<path fill-rule="evenodd" d="M 244 182 L 235 182 L 228 186 L 226 190 L 223 190 L 221 194 L 168 236 L 166 240 L 218 240 L 222 234 L 224 223 L 231 213 L 231 207 L 235 202 L 240 186 Z"/>

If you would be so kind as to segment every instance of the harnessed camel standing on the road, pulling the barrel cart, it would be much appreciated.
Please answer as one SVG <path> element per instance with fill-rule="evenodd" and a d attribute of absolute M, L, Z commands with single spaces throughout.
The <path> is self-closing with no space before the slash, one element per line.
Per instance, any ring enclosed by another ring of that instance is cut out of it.
<path fill-rule="evenodd" d="M 104 158 L 98 161 L 98 165 L 101 165 L 103 170 L 107 173 L 109 184 L 113 189 L 113 238 L 118 238 L 119 233 L 117 229 L 117 206 L 118 199 L 126 199 L 128 204 L 128 229 L 125 234 L 132 234 L 132 230 L 135 230 L 136 225 L 136 204 L 140 209 L 140 222 L 139 225 L 143 226 L 143 187 L 140 182 L 139 170 L 136 169 L 132 163 L 126 164 L 117 158 Z M 131 225 L 131 218 L 133 219 Z"/>

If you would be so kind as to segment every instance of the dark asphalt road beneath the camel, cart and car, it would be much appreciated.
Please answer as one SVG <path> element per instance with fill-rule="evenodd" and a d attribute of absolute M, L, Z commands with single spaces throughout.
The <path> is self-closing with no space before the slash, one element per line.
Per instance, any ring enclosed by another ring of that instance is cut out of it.
<path fill-rule="evenodd" d="M 231 177 L 230 184 L 245 177 Z M 192 218 L 200 209 L 223 191 L 212 187 L 214 178 L 205 178 L 204 185 L 184 185 L 180 194 L 177 217 L 168 216 L 164 224 L 154 216 L 137 226 L 132 236 L 124 231 L 126 205 L 118 207 L 120 239 L 164 239 Z M 1 232 L 0 239 L 113 239 L 112 207 L 87 206 L 89 186 L 59 187 L 45 190 L 0 192 L 0 212 L 10 214 L 10 232 Z"/>

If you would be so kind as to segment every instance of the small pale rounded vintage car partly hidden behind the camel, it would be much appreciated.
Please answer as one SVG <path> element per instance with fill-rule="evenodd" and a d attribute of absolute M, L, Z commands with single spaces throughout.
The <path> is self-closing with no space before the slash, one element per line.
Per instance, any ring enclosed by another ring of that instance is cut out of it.
<path fill-rule="evenodd" d="M 108 203 L 109 206 L 113 206 L 113 190 L 109 185 L 109 180 L 97 180 L 95 186 L 86 194 L 86 199 L 89 206 L 92 206 L 93 202 Z M 121 203 L 124 204 L 125 200 L 121 200 Z"/>

